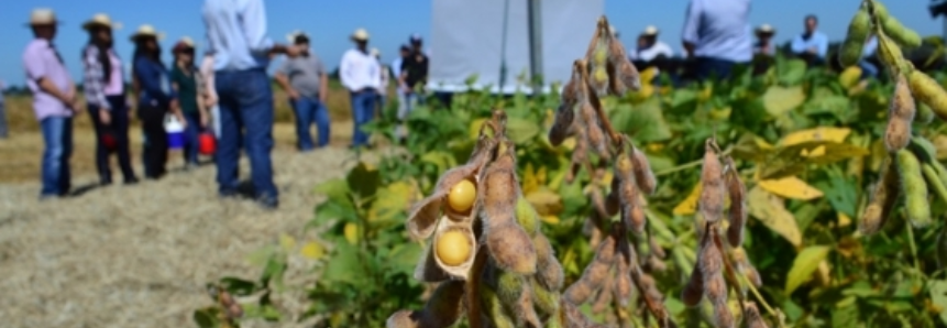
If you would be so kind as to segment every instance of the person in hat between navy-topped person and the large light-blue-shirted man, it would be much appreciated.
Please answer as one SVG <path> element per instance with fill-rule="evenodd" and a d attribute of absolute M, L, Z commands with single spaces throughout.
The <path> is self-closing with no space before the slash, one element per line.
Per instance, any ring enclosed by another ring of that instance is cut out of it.
<path fill-rule="evenodd" d="M 170 70 L 170 83 L 177 94 L 180 112 L 187 122 L 184 155 L 185 167 L 190 168 L 198 165 L 198 138 L 209 120 L 207 111 L 198 101 L 202 83 L 197 66 L 194 64 L 194 41 L 185 36 L 175 44 L 172 53 L 174 54 L 174 68 Z"/>

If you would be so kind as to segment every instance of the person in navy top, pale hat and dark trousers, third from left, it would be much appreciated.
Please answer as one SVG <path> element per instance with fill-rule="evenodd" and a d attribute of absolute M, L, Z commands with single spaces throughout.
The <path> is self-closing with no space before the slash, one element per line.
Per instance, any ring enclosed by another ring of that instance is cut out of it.
<path fill-rule="evenodd" d="M 165 174 L 168 143 L 164 119 L 175 101 L 168 70 L 161 62 L 161 46 L 157 42 L 161 37 L 151 25 L 142 25 L 131 36 L 135 43 L 132 72 L 140 87 L 139 119 L 145 134 L 145 177 L 151 179 L 157 179 Z M 179 112 L 175 114 L 184 121 Z"/>

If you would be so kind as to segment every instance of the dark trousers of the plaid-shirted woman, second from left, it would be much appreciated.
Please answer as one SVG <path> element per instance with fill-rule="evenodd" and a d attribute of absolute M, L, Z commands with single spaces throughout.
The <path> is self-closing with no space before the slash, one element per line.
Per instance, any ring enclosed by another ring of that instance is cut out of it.
<path fill-rule="evenodd" d="M 111 122 L 106 125 L 99 120 L 100 108 L 95 105 L 89 105 L 89 116 L 92 119 L 92 127 L 96 130 L 96 167 L 99 171 L 99 178 L 102 182 L 112 181 L 112 170 L 109 165 L 109 155 L 113 152 L 102 143 L 102 135 L 110 134 L 114 138 L 114 153 L 119 157 L 119 167 L 122 170 L 122 176 L 125 181 L 135 179 L 135 173 L 132 170 L 131 155 L 129 154 L 129 108 L 125 103 L 124 96 L 106 97 L 111 107 Z"/>

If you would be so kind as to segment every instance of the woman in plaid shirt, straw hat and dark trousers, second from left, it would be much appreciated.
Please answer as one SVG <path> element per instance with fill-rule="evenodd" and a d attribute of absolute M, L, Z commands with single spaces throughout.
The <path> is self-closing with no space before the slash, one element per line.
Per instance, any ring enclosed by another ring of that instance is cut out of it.
<path fill-rule="evenodd" d="M 112 183 L 109 154 L 119 157 L 125 184 L 137 183 L 129 155 L 129 106 L 125 101 L 122 61 L 112 48 L 112 30 L 118 23 L 103 13 L 82 24 L 89 33 L 89 43 L 82 50 L 84 91 L 89 114 L 96 130 L 96 166 L 99 183 Z"/>

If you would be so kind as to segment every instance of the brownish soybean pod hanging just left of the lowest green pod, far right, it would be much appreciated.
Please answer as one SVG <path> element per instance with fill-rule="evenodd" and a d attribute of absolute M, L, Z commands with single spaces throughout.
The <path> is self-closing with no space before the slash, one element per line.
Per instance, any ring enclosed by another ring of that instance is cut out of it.
<path fill-rule="evenodd" d="M 868 207 L 861 215 L 858 225 L 859 231 L 863 234 L 874 234 L 881 230 L 901 195 L 898 168 L 894 167 L 894 163 L 890 158 L 885 160 L 879 177 Z"/>

